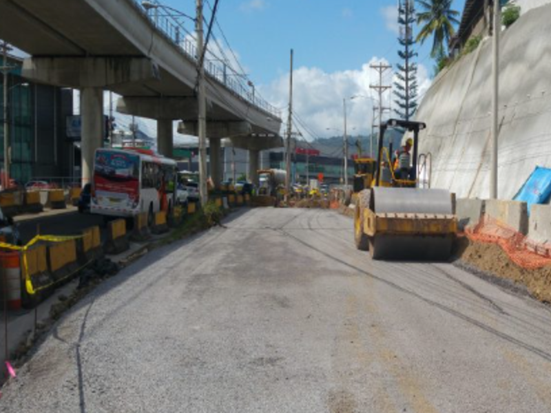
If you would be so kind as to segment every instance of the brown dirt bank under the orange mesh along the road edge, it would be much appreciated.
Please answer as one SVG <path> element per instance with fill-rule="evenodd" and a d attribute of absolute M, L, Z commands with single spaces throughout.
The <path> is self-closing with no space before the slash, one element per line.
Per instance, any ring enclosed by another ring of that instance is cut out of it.
<path fill-rule="evenodd" d="M 457 239 L 454 259 L 489 275 L 526 286 L 532 296 L 551 303 L 551 266 L 526 270 L 514 264 L 499 245 L 472 242 L 465 236 Z"/>

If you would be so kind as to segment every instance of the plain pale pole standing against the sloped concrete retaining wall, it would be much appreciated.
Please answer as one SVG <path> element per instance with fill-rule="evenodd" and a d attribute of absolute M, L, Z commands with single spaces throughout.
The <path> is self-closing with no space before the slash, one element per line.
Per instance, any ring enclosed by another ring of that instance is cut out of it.
<path fill-rule="evenodd" d="M 494 0 L 494 32 L 492 41 L 492 153 L 490 166 L 490 199 L 497 198 L 497 138 L 499 134 L 499 34 L 501 4 Z"/>

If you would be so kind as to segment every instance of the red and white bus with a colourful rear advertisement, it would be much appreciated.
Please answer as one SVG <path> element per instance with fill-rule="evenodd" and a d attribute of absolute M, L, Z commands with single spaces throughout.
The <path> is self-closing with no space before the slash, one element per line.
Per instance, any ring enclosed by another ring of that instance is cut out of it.
<path fill-rule="evenodd" d="M 123 218 L 147 212 L 152 223 L 154 213 L 174 207 L 177 171 L 175 160 L 149 149 L 96 149 L 90 212 Z"/>

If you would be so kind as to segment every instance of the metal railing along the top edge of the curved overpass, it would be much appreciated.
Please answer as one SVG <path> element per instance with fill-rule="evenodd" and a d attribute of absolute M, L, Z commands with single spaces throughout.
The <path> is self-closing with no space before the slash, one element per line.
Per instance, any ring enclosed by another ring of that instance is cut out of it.
<path fill-rule="evenodd" d="M 143 8 L 141 0 L 132 1 L 138 6 L 138 10 L 143 14 L 143 16 L 149 20 L 149 23 L 154 25 L 154 27 L 165 36 L 167 41 L 176 45 L 176 47 L 183 52 L 187 59 L 191 60 L 194 64 L 197 63 L 197 48 L 194 41 L 189 39 L 189 37 L 192 37 L 193 34 L 184 28 L 183 23 L 177 18 L 177 16 L 169 14 L 169 9 L 165 9 L 163 4 L 158 0 L 149 0 L 149 3 L 154 3 L 158 6 L 157 9 L 149 10 L 149 12 Z M 207 54 L 213 56 L 213 59 L 208 59 L 208 57 L 205 56 L 204 65 L 206 76 L 229 89 L 238 98 L 245 100 L 247 103 L 258 107 L 259 109 L 262 109 L 271 116 L 281 118 L 280 109 L 268 103 L 267 100 L 264 100 L 264 98 L 256 96 L 254 89 L 251 91 L 250 87 L 243 85 L 237 80 L 239 78 L 245 79 L 245 75 L 236 72 L 236 70 L 227 64 L 224 59 L 220 59 L 214 53 L 209 51 L 208 47 Z"/>

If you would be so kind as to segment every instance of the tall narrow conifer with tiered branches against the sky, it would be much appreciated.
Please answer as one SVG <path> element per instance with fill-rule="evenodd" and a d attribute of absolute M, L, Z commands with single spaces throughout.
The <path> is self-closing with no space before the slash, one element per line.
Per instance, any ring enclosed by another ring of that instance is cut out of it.
<path fill-rule="evenodd" d="M 413 23 L 415 23 L 415 8 L 413 0 L 399 0 L 398 24 L 400 25 L 398 41 L 402 46 L 398 50 L 398 56 L 402 63 L 397 63 L 394 94 L 398 109 L 394 112 L 404 120 L 410 120 L 417 109 L 417 65 L 413 58 L 417 53 L 413 52 Z"/>

